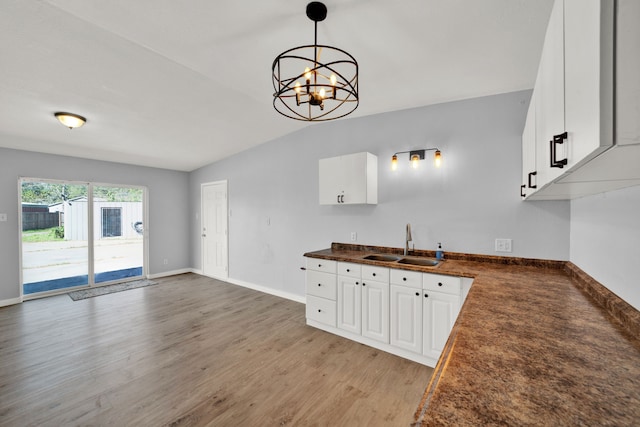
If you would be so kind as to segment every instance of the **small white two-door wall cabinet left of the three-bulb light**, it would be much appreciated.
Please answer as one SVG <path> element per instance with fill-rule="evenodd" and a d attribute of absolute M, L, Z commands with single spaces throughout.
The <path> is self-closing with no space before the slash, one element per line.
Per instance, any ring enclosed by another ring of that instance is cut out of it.
<path fill-rule="evenodd" d="M 355 153 L 319 161 L 321 205 L 378 203 L 378 158 Z"/>

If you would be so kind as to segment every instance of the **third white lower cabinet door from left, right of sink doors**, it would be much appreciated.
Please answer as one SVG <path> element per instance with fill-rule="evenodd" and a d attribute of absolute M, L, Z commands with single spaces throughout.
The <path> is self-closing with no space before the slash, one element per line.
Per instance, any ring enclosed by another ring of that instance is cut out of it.
<path fill-rule="evenodd" d="M 421 291 L 406 286 L 391 285 L 391 345 L 422 353 Z"/>

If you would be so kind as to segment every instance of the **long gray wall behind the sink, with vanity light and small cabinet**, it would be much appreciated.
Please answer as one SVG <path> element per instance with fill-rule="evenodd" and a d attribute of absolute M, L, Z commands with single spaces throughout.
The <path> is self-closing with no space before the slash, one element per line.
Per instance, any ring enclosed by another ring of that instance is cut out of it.
<path fill-rule="evenodd" d="M 190 175 L 191 264 L 201 268 L 200 185 L 229 182 L 229 276 L 304 294 L 302 254 L 349 242 L 402 247 L 411 223 L 416 248 L 492 254 L 513 239 L 513 256 L 569 259 L 570 203 L 522 202 L 521 134 L 530 91 L 310 125 Z M 281 120 L 274 117 L 274 120 Z M 434 147 L 409 170 L 408 155 Z M 378 156 L 378 205 L 320 206 L 318 160 L 360 151 Z M 269 221 L 268 221 L 269 219 Z M 270 225 L 268 224 L 270 222 Z"/>

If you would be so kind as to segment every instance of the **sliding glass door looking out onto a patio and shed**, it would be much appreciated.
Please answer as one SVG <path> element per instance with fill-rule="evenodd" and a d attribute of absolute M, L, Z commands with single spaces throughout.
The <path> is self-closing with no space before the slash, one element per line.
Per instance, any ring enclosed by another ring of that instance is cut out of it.
<path fill-rule="evenodd" d="M 24 296 L 145 274 L 143 187 L 20 180 Z"/>

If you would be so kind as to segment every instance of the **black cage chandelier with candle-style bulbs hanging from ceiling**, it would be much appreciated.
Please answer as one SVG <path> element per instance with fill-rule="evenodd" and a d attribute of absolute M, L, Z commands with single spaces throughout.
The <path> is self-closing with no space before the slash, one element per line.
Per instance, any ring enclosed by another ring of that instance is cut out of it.
<path fill-rule="evenodd" d="M 289 49 L 273 61 L 273 107 L 295 120 L 339 119 L 358 107 L 358 63 L 342 49 L 318 44 L 318 22 L 327 17 L 324 4 L 309 3 L 307 16 L 314 22 L 313 44 Z"/>

